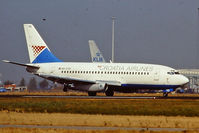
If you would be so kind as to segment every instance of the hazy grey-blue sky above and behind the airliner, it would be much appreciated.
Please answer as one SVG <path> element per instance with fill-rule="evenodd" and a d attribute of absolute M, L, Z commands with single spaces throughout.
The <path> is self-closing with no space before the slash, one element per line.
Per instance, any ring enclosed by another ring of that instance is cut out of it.
<path fill-rule="evenodd" d="M 199 0 L 0 0 L 0 60 L 29 62 L 24 23 L 63 61 L 90 62 L 90 39 L 109 60 L 115 16 L 115 62 L 199 68 L 198 8 Z M 32 77 L 2 62 L 0 73 L 3 81 Z"/>

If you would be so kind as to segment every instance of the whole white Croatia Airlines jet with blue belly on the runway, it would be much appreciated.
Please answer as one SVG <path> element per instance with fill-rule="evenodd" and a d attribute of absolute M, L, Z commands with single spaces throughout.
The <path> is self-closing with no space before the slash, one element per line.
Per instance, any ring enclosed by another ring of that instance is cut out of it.
<path fill-rule="evenodd" d="M 189 80 L 171 67 L 138 63 L 84 63 L 62 62 L 56 58 L 32 24 L 24 24 L 30 63 L 22 64 L 34 75 L 64 84 L 68 89 L 88 92 L 95 96 L 105 92 L 113 96 L 114 91 L 131 92 L 135 89 L 161 89 L 167 96 L 170 90 L 183 86 Z"/>

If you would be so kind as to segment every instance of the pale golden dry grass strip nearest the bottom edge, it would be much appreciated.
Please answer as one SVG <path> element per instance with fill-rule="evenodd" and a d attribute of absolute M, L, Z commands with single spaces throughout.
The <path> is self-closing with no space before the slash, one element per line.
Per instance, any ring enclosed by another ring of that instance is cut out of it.
<path fill-rule="evenodd" d="M 199 117 L 0 112 L 0 124 L 198 129 Z"/>

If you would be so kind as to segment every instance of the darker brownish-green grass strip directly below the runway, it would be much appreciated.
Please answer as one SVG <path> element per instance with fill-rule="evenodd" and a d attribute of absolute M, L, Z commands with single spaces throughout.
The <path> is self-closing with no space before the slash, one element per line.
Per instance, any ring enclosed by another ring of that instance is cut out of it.
<path fill-rule="evenodd" d="M 1 111 L 105 115 L 199 116 L 199 100 L 0 98 Z"/>

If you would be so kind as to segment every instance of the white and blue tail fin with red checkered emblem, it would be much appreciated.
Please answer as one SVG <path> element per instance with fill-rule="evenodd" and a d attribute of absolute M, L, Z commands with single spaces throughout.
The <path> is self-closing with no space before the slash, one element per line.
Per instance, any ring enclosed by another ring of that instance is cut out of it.
<path fill-rule="evenodd" d="M 53 55 L 32 24 L 24 24 L 30 63 L 62 62 Z"/>

